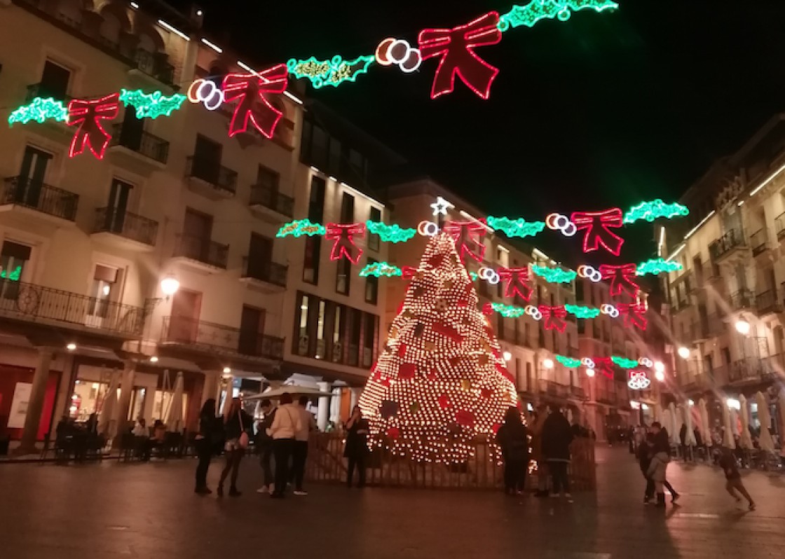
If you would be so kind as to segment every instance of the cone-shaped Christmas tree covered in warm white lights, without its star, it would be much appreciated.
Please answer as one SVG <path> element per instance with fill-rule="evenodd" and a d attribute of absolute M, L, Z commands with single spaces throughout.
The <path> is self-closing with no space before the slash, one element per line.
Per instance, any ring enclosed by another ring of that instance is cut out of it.
<path fill-rule="evenodd" d="M 517 404 L 512 378 L 450 236 L 433 237 L 360 396 L 371 445 L 464 462 Z"/>

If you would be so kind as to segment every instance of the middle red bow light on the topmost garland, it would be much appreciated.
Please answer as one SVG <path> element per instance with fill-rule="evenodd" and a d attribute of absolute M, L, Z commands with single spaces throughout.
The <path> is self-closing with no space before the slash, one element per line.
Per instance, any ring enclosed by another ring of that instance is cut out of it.
<path fill-rule="evenodd" d="M 228 74 L 224 78 L 225 100 L 239 100 L 229 124 L 229 137 L 248 129 L 248 121 L 265 137 L 272 138 L 281 118 L 265 97 L 268 93 L 283 93 L 287 89 L 287 65 L 278 64 L 258 74 Z"/>

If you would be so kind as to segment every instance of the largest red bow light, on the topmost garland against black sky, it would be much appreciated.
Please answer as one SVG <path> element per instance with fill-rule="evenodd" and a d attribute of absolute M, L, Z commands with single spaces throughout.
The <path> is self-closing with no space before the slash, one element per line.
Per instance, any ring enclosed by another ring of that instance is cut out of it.
<path fill-rule="evenodd" d="M 422 60 L 441 57 L 433 76 L 431 99 L 455 89 L 455 75 L 474 93 L 487 99 L 498 68 L 474 53 L 478 46 L 495 45 L 502 40 L 498 13 L 486 13 L 466 25 L 453 29 L 424 29 L 418 42 Z"/>

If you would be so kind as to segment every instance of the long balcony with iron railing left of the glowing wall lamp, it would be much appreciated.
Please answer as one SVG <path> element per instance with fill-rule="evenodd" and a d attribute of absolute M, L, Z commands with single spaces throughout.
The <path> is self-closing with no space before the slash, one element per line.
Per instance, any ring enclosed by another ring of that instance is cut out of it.
<path fill-rule="evenodd" d="M 144 309 L 70 291 L 0 279 L 0 316 L 120 338 L 139 338 Z"/>

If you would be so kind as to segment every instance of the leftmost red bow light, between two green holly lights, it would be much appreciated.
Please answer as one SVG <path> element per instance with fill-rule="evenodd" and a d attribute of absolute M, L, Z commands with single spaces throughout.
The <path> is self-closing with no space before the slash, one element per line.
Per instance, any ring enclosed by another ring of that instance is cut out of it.
<path fill-rule="evenodd" d="M 112 93 L 93 100 L 74 99 L 68 103 L 68 126 L 79 126 L 71 140 L 69 157 L 74 157 L 89 148 L 98 159 L 104 159 L 104 152 L 111 140 L 111 134 L 101 126 L 101 120 L 111 120 L 120 108 L 120 94 Z"/>

